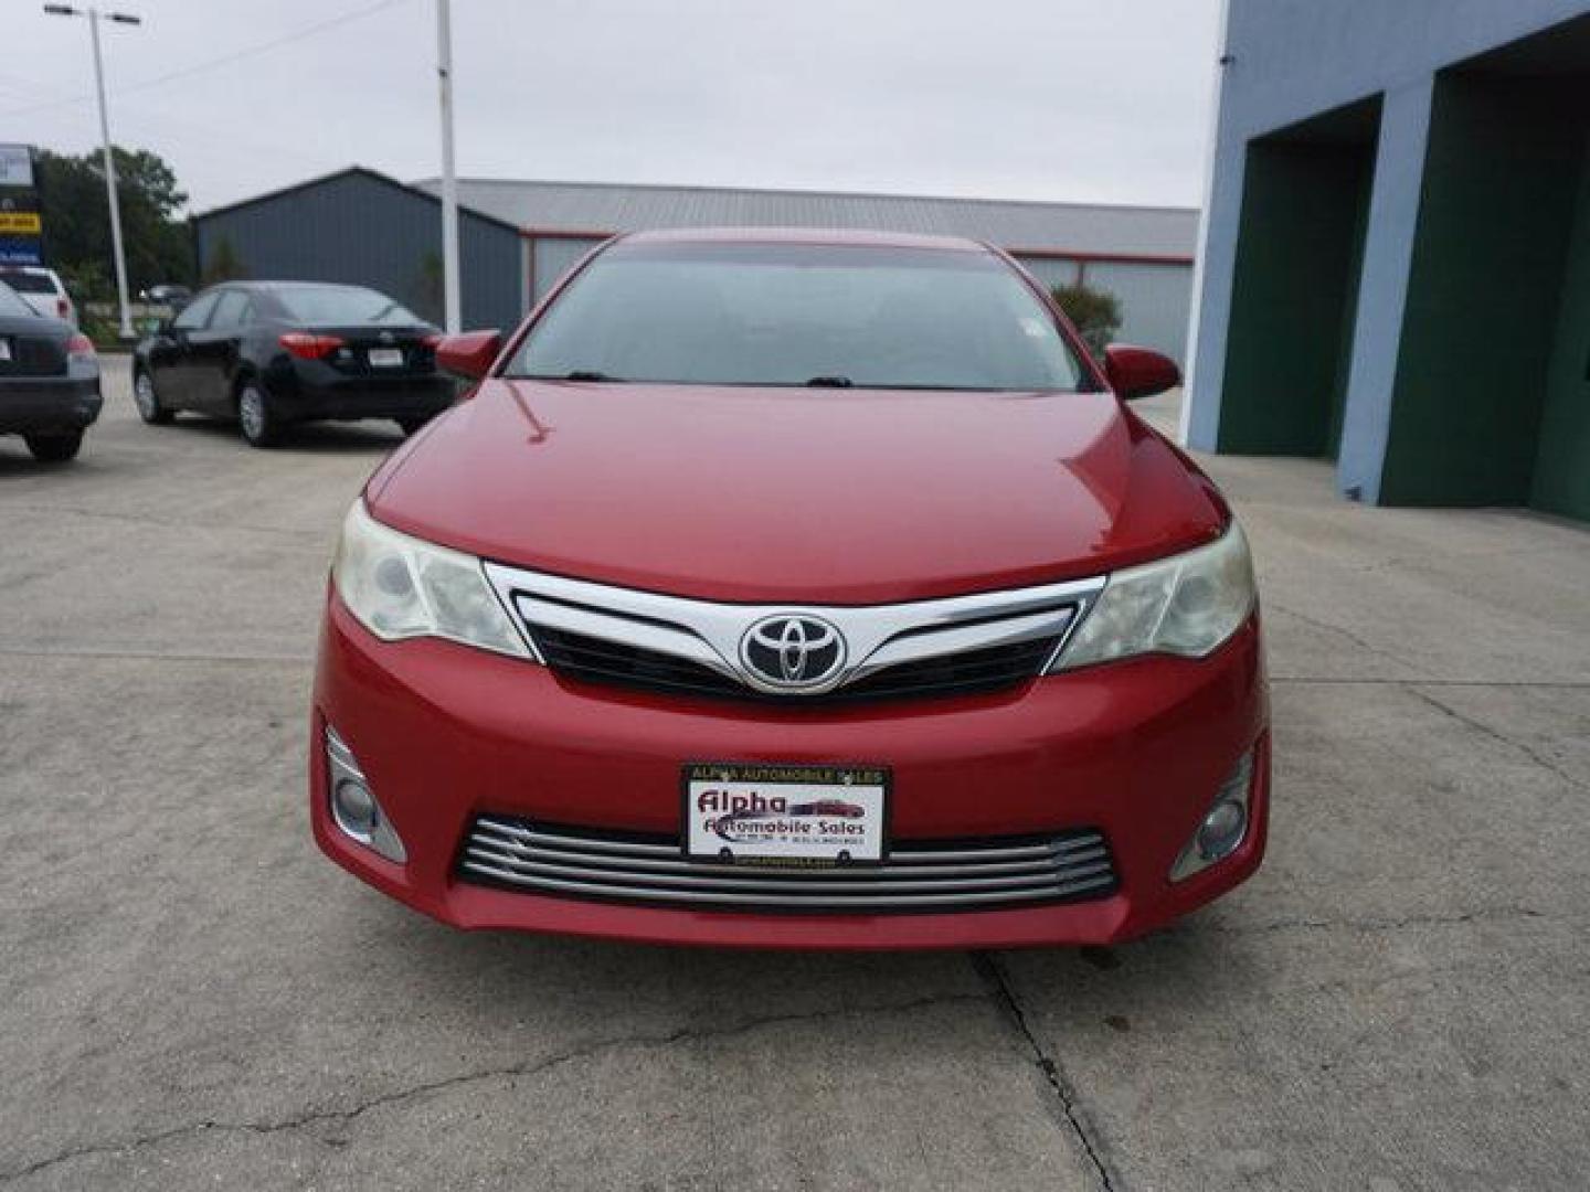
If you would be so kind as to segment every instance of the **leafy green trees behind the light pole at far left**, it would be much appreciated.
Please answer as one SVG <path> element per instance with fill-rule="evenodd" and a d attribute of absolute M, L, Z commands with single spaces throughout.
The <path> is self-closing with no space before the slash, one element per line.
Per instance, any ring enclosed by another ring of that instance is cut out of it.
<path fill-rule="evenodd" d="M 116 156 L 116 197 L 121 202 L 129 289 L 137 294 L 159 281 L 191 283 L 192 237 L 188 223 L 178 216 L 188 195 L 178 189 L 172 167 L 146 149 L 118 145 L 111 153 Z M 103 157 L 99 151 L 80 157 L 40 149 L 35 170 L 48 262 L 78 278 L 80 284 L 105 286 L 103 292 L 78 292 L 80 300 L 111 299 L 114 265 Z"/>

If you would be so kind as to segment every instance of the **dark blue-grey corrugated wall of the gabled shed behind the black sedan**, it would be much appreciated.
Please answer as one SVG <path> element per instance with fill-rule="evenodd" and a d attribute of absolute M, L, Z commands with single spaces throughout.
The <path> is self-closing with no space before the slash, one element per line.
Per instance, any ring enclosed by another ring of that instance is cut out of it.
<path fill-rule="evenodd" d="M 525 312 L 520 237 L 460 213 L 466 327 L 512 327 Z M 442 230 L 434 200 L 364 173 L 342 173 L 194 219 L 199 269 L 226 238 L 254 280 L 372 286 L 442 321 Z"/>

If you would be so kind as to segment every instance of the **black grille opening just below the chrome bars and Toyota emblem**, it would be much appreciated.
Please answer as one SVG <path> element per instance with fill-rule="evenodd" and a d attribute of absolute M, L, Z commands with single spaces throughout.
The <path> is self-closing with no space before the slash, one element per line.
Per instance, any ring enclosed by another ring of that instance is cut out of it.
<path fill-rule="evenodd" d="M 533 625 L 529 629 L 547 666 L 569 679 L 668 695 L 771 701 L 798 707 L 1000 691 L 1037 677 L 1059 642 L 1059 637 L 1040 637 L 940 655 L 884 668 L 827 695 L 779 696 L 754 691 L 711 668 L 658 650 L 550 629 L 544 625 Z"/>

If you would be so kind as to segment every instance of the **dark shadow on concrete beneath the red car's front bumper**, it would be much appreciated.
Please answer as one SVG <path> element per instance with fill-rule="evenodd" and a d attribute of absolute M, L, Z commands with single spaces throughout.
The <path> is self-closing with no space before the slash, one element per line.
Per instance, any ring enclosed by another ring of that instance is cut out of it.
<path fill-rule="evenodd" d="M 372 974 L 402 973 L 410 997 L 466 1012 L 467 1028 L 487 1036 L 537 1022 L 552 1033 L 591 1022 L 622 1024 L 620 1036 L 739 1033 L 943 1003 L 999 1014 L 1016 1044 L 1024 1016 L 1062 1006 L 1072 1028 L 1108 1038 L 1164 1020 L 1188 998 L 1207 1004 L 1251 966 L 1235 936 L 1204 915 L 1116 947 L 1005 952 L 698 949 L 460 931 L 398 906 L 355 917 L 364 930 L 350 947 L 364 950 Z"/>

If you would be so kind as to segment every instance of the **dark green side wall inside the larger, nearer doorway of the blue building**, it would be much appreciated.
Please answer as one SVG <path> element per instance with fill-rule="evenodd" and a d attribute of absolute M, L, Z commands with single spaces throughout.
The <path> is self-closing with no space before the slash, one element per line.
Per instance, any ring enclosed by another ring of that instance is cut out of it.
<path fill-rule="evenodd" d="M 1582 159 L 1566 84 L 1437 76 L 1382 502 L 1530 501 Z"/>

